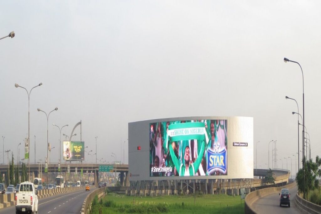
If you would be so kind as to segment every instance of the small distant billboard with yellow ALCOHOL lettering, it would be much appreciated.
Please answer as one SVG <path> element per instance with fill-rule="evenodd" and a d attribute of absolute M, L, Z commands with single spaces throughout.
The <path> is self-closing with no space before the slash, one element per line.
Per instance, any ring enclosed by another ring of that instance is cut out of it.
<path fill-rule="evenodd" d="M 64 141 L 64 160 L 84 160 L 84 141 Z"/>

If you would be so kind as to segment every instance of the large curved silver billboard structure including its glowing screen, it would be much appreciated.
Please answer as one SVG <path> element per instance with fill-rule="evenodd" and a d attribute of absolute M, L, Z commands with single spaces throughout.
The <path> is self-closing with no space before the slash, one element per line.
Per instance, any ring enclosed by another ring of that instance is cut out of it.
<path fill-rule="evenodd" d="M 253 117 L 128 124 L 129 180 L 253 178 Z"/>

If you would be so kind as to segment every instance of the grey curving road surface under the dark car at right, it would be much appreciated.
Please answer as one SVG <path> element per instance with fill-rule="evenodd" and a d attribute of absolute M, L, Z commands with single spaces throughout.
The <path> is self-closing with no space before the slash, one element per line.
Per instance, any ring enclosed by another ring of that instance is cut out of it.
<path fill-rule="evenodd" d="M 279 193 L 273 193 L 267 195 L 263 198 L 258 199 L 252 204 L 252 208 L 256 211 L 256 213 L 262 214 L 271 214 L 271 213 L 301 213 L 295 206 L 295 195 L 297 192 L 297 187 L 294 187 L 290 190 L 290 201 L 291 207 L 282 205 L 280 207 L 280 196 Z"/>

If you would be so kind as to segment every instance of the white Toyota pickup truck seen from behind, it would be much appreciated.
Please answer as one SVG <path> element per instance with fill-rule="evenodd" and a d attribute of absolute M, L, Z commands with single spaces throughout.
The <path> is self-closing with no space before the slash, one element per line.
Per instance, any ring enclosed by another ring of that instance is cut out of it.
<path fill-rule="evenodd" d="M 16 193 L 16 214 L 38 213 L 38 191 L 33 183 L 28 181 L 20 184 L 19 192 Z"/>

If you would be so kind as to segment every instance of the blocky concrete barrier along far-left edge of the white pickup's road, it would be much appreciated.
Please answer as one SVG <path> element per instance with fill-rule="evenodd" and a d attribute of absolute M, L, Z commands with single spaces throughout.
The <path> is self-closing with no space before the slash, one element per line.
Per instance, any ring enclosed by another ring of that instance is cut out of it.
<path fill-rule="evenodd" d="M 38 199 L 49 197 L 52 195 L 57 194 L 63 194 L 63 193 L 69 193 L 74 192 L 78 190 L 84 190 L 85 187 L 65 187 L 65 188 L 56 188 L 56 189 L 50 189 L 50 190 L 40 190 L 38 191 Z M 10 193 L 10 194 L 1 194 L 0 195 L 0 209 L 5 207 L 10 207 L 15 205 L 14 198 L 16 196 L 16 193 Z"/>

